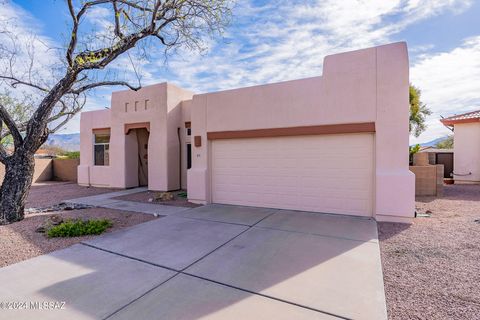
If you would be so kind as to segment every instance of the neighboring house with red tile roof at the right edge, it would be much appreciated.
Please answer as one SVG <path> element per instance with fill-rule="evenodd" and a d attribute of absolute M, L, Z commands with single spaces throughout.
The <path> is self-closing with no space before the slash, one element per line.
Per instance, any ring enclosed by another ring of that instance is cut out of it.
<path fill-rule="evenodd" d="M 480 183 L 480 110 L 440 120 L 453 128 L 455 183 Z"/>

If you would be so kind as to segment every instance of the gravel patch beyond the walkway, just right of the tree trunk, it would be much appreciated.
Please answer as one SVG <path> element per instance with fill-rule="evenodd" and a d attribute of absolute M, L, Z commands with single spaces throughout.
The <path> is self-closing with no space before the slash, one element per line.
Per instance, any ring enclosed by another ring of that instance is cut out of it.
<path fill-rule="evenodd" d="M 26 208 L 43 208 L 58 204 L 64 200 L 94 196 L 118 189 L 82 187 L 73 182 L 35 183 L 30 189 Z"/>

